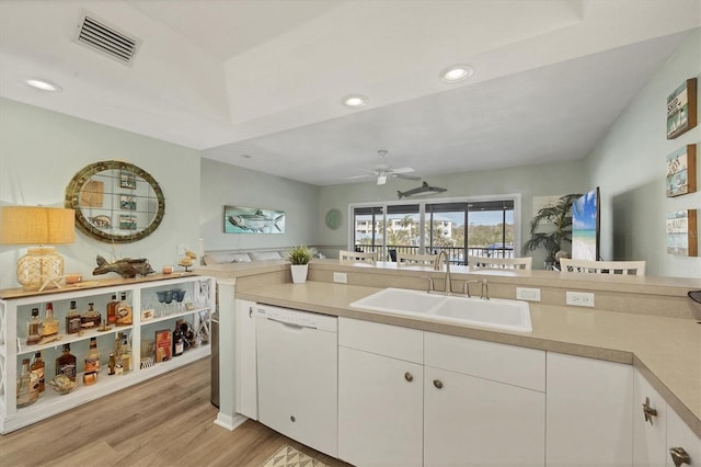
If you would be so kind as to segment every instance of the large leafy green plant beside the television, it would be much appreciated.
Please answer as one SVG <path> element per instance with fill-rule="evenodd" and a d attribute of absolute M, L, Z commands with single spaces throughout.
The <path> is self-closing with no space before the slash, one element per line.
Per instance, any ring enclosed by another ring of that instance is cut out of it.
<path fill-rule="evenodd" d="M 524 252 L 544 248 L 548 252 L 545 269 L 552 267 L 555 263 L 563 240 L 572 241 L 572 203 L 581 196 L 582 194 L 560 196 L 556 204 L 542 207 L 530 221 L 530 239 L 524 244 Z M 539 231 L 543 223 L 550 224 L 553 228 Z"/>

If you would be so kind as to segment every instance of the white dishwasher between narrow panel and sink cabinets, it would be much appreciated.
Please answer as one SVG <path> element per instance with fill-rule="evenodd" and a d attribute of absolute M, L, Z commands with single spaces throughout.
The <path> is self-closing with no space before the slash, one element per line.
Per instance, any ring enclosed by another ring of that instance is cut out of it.
<path fill-rule="evenodd" d="M 338 455 L 337 318 L 256 305 L 258 421 Z"/>

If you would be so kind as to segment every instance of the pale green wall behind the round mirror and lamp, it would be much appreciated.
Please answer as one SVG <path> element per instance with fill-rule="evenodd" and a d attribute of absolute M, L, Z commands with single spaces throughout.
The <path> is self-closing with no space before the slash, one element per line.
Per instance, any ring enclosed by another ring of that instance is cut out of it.
<path fill-rule="evenodd" d="M 196 248 L 199 152 L 0 99 L 0 205 L 60 207 L 78 171 L 112 159 L 131 162 L 158 181 L 165 196 L 165 216 L 153 234 L 134 243 L 113 247 L 77 231 L 74 243 L 57 246 L 66 271 L 80 272 L 84 280 L 92 277 L 97 254 L 108 260 L 147 258 L 160 270 L 162 264 L 177 262 L 177 244 Z M 26 247 L 0 246 L 0 288 L 19 286 L 14 270 Z"/>

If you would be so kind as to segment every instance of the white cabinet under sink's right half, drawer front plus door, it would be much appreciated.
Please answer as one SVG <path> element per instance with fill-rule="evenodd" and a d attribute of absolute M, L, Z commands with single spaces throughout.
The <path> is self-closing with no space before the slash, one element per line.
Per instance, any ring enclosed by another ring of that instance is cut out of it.
<path fill-rule="evenodd" d="M 424 345 L 424 465 L 544 466 L 545 352 L 429 332 Z"/>

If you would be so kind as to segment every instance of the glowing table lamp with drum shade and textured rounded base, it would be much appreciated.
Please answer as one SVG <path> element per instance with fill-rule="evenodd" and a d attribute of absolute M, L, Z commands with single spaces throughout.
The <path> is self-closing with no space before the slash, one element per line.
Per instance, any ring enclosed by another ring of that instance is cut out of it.
<path fill-rule="evenodd" d="M 38 244 L 18 261 L 18 282 L 25 291 L 60 287 L 64 257 L 47 244 L 76 240 L 76 212 L 43 206 L 3 206 L 0 243 Z"/>

